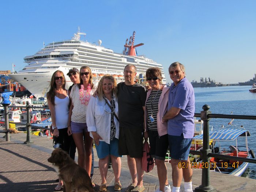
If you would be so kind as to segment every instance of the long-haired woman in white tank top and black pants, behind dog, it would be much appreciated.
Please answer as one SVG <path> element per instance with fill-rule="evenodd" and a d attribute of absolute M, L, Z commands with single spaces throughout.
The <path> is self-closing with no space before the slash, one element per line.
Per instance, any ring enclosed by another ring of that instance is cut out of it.
<path fill-rule="evenodd" d="M 62 71 L 55 71 L 50 81 L 50 90 L 46 94 L 48 106 L 52 117 L 53 135 L 56 142 L 60 143 L 60 148 L 69 153 L 70 137 L 68 136 L 68 113 L 69 113 L 69 96 L 68 90 L 65 89 L 66 81 Z M 63 181 L 55 187 L 60 191 Z"/>

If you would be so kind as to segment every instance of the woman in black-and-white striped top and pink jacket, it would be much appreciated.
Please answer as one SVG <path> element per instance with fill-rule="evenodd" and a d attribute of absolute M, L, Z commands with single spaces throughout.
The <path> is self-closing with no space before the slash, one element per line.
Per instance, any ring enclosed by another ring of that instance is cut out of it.
<path fill-rule="evenodd" d="M 150 89 L 147 92 L 145 108 L 145 137 L 150 141 L 150 152 L 155 157 L 157 174 L 159 179 L 159 192 L 170 192 L 171 188 L 167 180 L 167 168 L 165 155 L 168 143 L 167 122 L 162 123 L 162 116 L 167 111 L 169 87 L 162 86 L 162 73 L 158 67 L 149 68 L 146 78 Z"/>

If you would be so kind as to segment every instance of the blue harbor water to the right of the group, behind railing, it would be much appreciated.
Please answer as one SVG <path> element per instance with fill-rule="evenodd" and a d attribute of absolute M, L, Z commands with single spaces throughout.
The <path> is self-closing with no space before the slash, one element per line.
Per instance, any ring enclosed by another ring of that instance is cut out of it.
<path fill-rule="evenodd" d="M 200 113 L 203 109 L 202 106 L 207 104 L 210 106 L 211 113 L 215 114 L 231 114 L 234 115 L 256 115 L 256 93 L 249 92 L 251 86 L 225 86 L 225 87 L 204 87 L 194 88 L 196 99 L 195 113 Z M 224 125 L 229 127 L 228 123 L 231 119 L 211 118 L 209 126 L 213 126 L 214 130 L 218 130 Z M 255 138 L 256 138 L 256 120 L 240 120 L 235 119 L 233 126 L 243 127 L 248 129 L 251 136 L 248 137 L 248 146 L 256 152 Z M 245 146 L 245 139 L 238 138 L 238 146 Z M 229 145 L 235 145 L 235 141 L 224 143 L 228 148 Z M 215 144 L 218 146 L 218 142 Z M 239 147 L 238 147 L 239 148 Z M 248 168 L 243 177 L 256 179 L 256 164 L 249 163 Z"/>

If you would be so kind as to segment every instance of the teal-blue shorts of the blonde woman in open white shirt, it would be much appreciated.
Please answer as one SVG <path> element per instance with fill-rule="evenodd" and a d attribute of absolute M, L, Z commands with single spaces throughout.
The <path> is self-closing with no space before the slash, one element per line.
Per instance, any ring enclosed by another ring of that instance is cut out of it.
<path fill-rule="evenodd" d="M 106 143 L 105 141 L 99 141 L 99 145 L 95 144 L 95 148 L 97 150 L 97 155 L 99 159 L 103 159 L 108 155 L 113 155 L 115 157 L 122 157 L 118 155 L 118 139 L 114 138 L 110 141 L 110 144 Z"/>

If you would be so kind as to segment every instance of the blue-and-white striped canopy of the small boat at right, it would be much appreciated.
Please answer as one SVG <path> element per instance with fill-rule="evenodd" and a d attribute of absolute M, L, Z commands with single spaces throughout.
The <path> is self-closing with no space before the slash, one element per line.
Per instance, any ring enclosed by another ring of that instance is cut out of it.
<path fill-rule="evenodd" d="M 238 136 L 250 136 L 250 133 L 245 129 L 220 129 L 217 131 L 209 131 L 210 139 L 234 140 Z M 197 135 L 193 139 L 203 139 L 203 134 Z"/>

